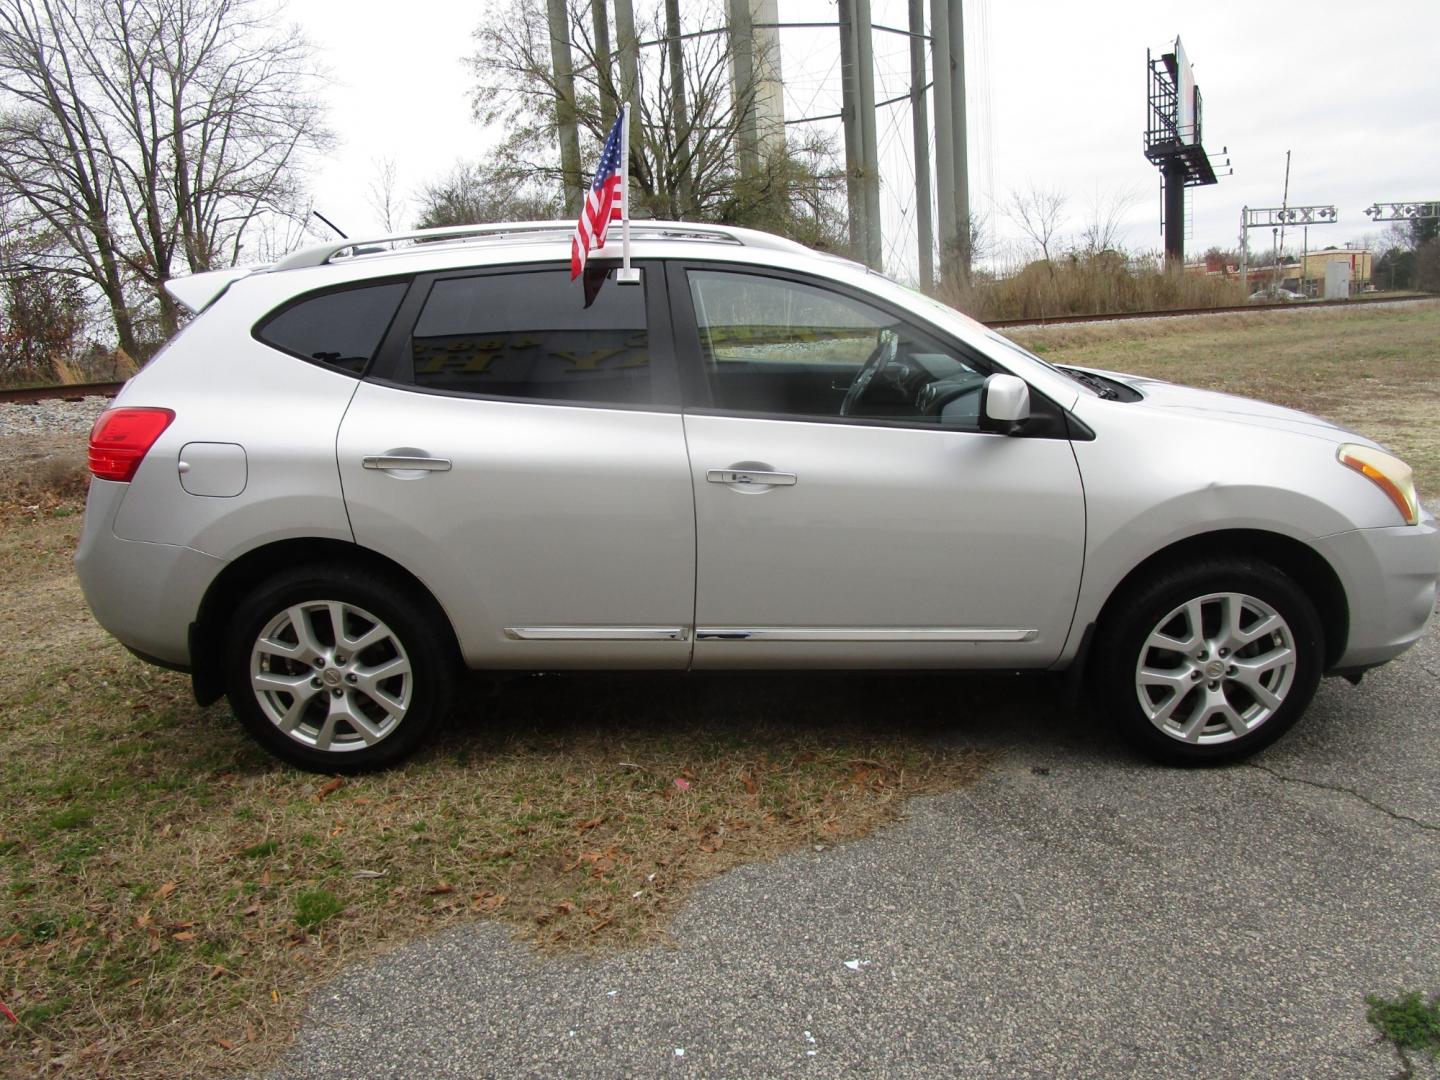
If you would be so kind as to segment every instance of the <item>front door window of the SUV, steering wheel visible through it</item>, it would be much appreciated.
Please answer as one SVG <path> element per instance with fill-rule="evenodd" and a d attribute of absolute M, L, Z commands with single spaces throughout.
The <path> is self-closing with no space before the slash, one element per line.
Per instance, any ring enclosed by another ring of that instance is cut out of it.
<path fill-rule="evenodd" d="M 978 428 L 984 373 L 863 301 L 782 278 L 690 271 L 714 405 Z"/>

